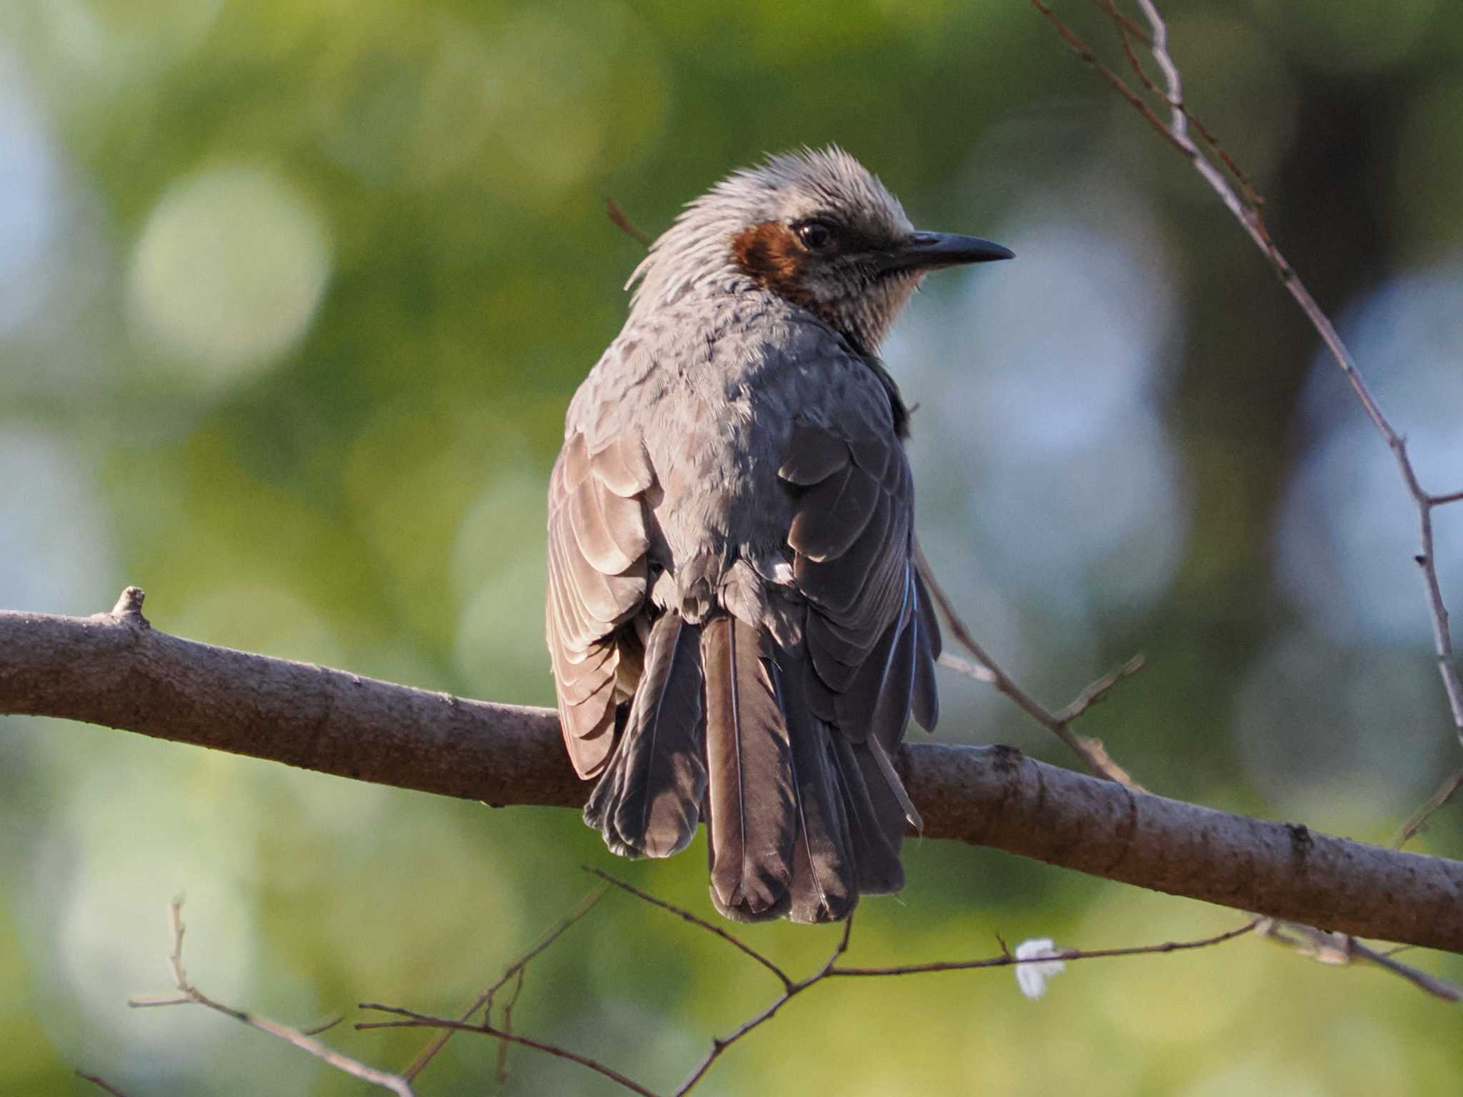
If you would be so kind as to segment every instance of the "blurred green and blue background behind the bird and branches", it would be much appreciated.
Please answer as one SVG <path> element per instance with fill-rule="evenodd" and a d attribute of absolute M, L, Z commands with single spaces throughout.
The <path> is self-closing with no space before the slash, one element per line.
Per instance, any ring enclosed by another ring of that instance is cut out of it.
<path fill-rule="evenodd" d="M 1121 67 L 1093 7 L 1058 10 Z M 1172 0 L 1189 102 L 1267 196 L 1425 486 L 1463 487 L 1463 7 Z M 9 0 L 0 7 L 0 606 L 550 704 L 544 484 L 651 233 L 767 151 L 837 140 L 922 227 L 1015 263 L 930 279 L 887 345 L 919 529 L 979 638 L 1156 791 L 1390 841 L 1460 762 L 1385 446 L 1200 178 L 1021 0 L 726 6 Z M 1463 506 L 1440 510 L 1463 611 Z M 980 683 L 947 742 L 1072 764 Z M 922 734 L 914 731 L 913 734 Z M 1413 848 L 1463 854 L 1457 809 Z M 860 910 L 860 962 L 1103 948 L 1239 916 L 938 841 Z M 590 889 L 708 913 L 704 857 L 614 862 L 572 812 L 489 810 L 0 718 L 0 1093 L 361 1093 L 168 989 L 306 1025 L 478 989 Z M 748 932 L 796 971 L 835 930 Z M 655 1088 L 774 996 L 610 897 L 515 1022 Z M 1410 954 L 1463 977 L 1457 957 Z M 329 1037 L 401 1068 L 420 1034 Z M 617 1093 L 458 1037 L 421 1094 Z M 1435 1094 L 1459 1014 L 1260 940 L 837 986 L 707 1094 Z"/>

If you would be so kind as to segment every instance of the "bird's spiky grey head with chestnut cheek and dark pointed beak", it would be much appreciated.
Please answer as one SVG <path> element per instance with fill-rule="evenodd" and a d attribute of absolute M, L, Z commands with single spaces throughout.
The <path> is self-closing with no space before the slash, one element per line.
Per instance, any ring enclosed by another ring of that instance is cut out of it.
<path fill-rule="evenodd" d="M 768 158 L 682 212 L 636 269 L 636 307 L 689 287 L 748 284 L 808 309 L 865 351 L 930 271 L 1011 259 L 988 240 L 917 231 L 884 184 L 843 149 Z"/>

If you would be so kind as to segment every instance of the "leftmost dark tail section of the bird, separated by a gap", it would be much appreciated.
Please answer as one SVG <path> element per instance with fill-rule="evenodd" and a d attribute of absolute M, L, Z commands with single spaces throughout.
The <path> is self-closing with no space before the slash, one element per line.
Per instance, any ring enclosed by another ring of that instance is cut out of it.
<path fill-rule="evenodd" d="M 623 742 L 585 804 L 585 822 L 622 856 L 670 857 L 696 834 L 707 790 L 699 633 L 679 613 L 651 627 Z"/>

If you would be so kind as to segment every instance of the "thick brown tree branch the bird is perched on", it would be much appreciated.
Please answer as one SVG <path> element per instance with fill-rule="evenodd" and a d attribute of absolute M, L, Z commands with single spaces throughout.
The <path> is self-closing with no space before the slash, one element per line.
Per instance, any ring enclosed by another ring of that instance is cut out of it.
<path fill-rule="evenodd" d="M 111 613 L 0 613 L 0 712 L 64 717 L 492 804 L 578 807 L 553 711 L 464 701 L 170 636 Z M 1011 747 L 900 759 L 925 837 L 1327 930 L 1463 952 L 1463 863 L 1125 788 Z"/>

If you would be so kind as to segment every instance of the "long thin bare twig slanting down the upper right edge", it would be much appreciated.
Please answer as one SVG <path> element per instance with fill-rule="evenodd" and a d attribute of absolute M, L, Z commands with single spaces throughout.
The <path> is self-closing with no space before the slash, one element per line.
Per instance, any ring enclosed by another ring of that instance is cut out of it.
<path fill-rule="evenodd" d="M 1418 543 L 1419 551 L 1413 557 L 1418 569 L 1422 575 L 1422 585 L 1428 601 L 1428 611 L 1432 616 L 1432 646 L 1437 655 L 1438 674 L 1443 679 L 1443 689 L 1447 695 L 1448 709 L 1453 717 L 1454 731 L 1459 742 L 1463 743 L 1463 683 L 1459 682 L 1457 668 L 1454 667 L 1453 654 L 1453 638 L 1448 632 L 1448 611 L 1443 601 L 1443 589 L 1438 584 L 1437 560 L 1432 551 L 1432 510 L 1437 506 L 1443 506 L 1450 502 L 1457 502 L 1463 499 L 1463 491 L 1450 491 L 1445 494 L 1431 494 L 1426 491 L 1421 481 L 1418 480 L 1418 472 L 1412 465 L 1412 458 L 1407 455 L 1406 439 L 1393 429 L 1391 423 L 1381 411 L 1381 405 L 1377 402 L 1366 380 L 1362 377 L 1361 370 L 1356 366 L 1356 360 L 1352 357 L 1350 350 L 1342 341 L 1340 333 L 1337 333 L 1336 326 L 1331 323 L 1330 317 L 1321 309 L 1321 306 L 1311 295 L 1305 282 L 1301 281 L 1295 268 L 1285 257 L 1280 249 L 1276 246 L 1274 240 L 1265 228 L 1264 219 L 1260 215 L 1257 200 L 1245 200 L 1235 189 L 1229 184 L 1225 173 L 1220 171 L 1194 143 L 1189 136 L 1188 124 L 1189 116 L 1184 107 L 1184 79 L 1179 73 L 1178 64 L 1175 64 L 1173 57 L 1169 54 L 1167 39 L 1169 28 L 1159 13 L 1157 6 L 1153 0 L 1137 0 L 1138 7 L 1143 10 L 1144 19 L 1148 22 L 1150 29 L 1150 51 L 1153 60 L 1157 63 L 1159 70 L 1163 73 L 1165 88 L 1160 91 L 1154 88 L 1163 102 L 1169 107 L 1169 123 L 1163 124 L 1156 118 L 1153 111 L 1146 102 L 1122 82 L 1116 73 L 1106 69 L 1093 54 L 1093 51 L 1077 38 L 1072 31 L 1065 26 L 1061 19 L 1058 19 L 1050 9 L 1045 7 L 1040 0 L 1030 0 L 1030 3 L 1058 29 L 1062 38 L 1077 50 L 1078 57 L 1096 67 L 1103 79 L 1106 79 L 1150 126 L 1159 130 L 1159 133 L 1172 145 L 1178 152 L 1188 159 L 1194 170 L 1204 178 L 1206 183 L 1219 195 L 1220 200 L 1235 216 L 1239 225 L 1245 230 L 1249 238 L 1254 241 L 1255 247 L 1265 256 L 1270 266 L 1274 269 L 1280 282 L 1295 298 L 1301 312 L 1311 322 L 1315 333 L 1325 344 L 1336 364 L 1340 367 L 1346 380 L 1350 383 L 1352 391 L 1361 401 L 1362 408 L 1366 411 L 1368 418 L 1377 427 L 1377 431 L 1383 436 L 1387 448 L 1391 451 L 1393 458 L 1397 462 L 1397 472 L 1402 477 L 1403 486 L 1412 499 L 1413 509 L 1418 515 Z M 1110 3 L 1110 0 L 1106 0 Z M 1121 20 L 1116 22 L 1118 34 L 1124 38 L 1124 48 L 1127 48 L 1127 31 Z M 1135 60 L 1135 59 L 1134 59 Z M 1138 69 L 1141 75 L 1141 67 Z M 1143 78 L 1144 83 L 1147 78 Z M 1217 146 L 1216 146 L 1217 148 Z M 1227 157 L 1223 158 L 1230 167 L 1232 162 Z M 1242 174 L 1236 174 L 1236 178 L 1244 180 Z M 1248 184 L 1246 184 L 1248 186 Z M 1445 802 L 1445 799 L 1444 799 Z M 1429 802 L 1431 803 L 1431 802 Z M 1437 804 L 1437 806 L 1441 806 Z M 1431 810 L 1437 810 L 1437 806 Z M 1422 819 L 1425 819 L 1428 810 L 1422 812 Z M 1418 825 L 1421 826 L 1421 819 Z"/>

